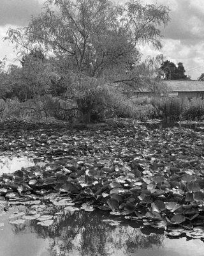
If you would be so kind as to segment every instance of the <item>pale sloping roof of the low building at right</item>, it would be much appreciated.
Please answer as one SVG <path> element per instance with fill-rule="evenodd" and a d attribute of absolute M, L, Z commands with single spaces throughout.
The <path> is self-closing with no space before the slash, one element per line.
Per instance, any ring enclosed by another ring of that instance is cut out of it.
<path fill-rule="evenodd" d="M 172 92 L 204 92 L 204 81 L 171 80 L 164 83 Z"/>

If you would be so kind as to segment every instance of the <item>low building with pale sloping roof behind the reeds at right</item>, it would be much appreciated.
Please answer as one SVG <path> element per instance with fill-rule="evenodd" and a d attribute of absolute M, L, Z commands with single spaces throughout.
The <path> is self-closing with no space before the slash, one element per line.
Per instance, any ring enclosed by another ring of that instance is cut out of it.
<path fill-rule="evenodd" d="M 204 99 L 204 81 L 196 80 L 168 80 L 163 81 L 168 88 L 167 93 L 153 92 L 152 90 L 143 89 L 140 92 L 135 92 L 133 98 L 136 97 L 163 97 L 166 94 L 168 97 L 180 97 L 193 99 L 200 97 Z"/>

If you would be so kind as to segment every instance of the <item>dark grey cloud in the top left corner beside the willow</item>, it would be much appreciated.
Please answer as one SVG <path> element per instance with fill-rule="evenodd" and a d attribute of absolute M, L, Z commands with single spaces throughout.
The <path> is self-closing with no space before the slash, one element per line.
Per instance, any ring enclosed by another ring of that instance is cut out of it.
<path fill-rule="evenodd" d="M 1 0 L 0 26 L 6 24 L 25 26 L 31 15 L 41 12 L 42 2 L 40 0 Z"/>

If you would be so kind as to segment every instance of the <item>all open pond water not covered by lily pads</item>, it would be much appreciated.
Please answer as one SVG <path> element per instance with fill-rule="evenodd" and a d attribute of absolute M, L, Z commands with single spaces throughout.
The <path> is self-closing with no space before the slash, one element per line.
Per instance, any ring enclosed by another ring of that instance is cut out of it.
<path fill-rule="evenodd" d="M 144 125 L 166 128 L 161 123 Z M 177 123 L 171 127 L 174 126 L 179 127 Z M 201 127 L 203 124 L 193 128 L 202 130 Z M 43 157 L 0 159 L 0 175 L 47 163 Z M 107 211 L 64 211 L 52 205 L 43 211 L 43 216 L 51 216 L 53 220 L 48 227 L 39 225 L 38 219 L 13 221 L 18 220 L 17 214 L 12 217 L 15 212 L 38 214 L 33 206 L 6 208 L 4 198 L 0 200 L 0 256 L 201 256 L 204 252 L 203 238 L 192 239 L 186 234 L 168 237 L 164 228 L 144 226 L 142 222 L 112 216 Z"/>

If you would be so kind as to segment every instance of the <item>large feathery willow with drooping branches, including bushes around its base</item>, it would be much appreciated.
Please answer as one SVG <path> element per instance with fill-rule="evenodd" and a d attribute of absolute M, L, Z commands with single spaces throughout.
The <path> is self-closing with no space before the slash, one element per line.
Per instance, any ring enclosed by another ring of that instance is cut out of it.
<path fill-rule="evenodd" d="M 27 27 L 9 29 L 4 38 L 15 44 L 22 67 L 1 74 L 1 98 L 15 97 L 20 108 L 31 106 L 30 113 L 43 119 L 89 123 L 108 113 L 135 116 L 123 91 L 158 88 L 138 44 L 161 48 L 159 26 L 170 21 L 168 12 L 139 1 L 47 1 Z"/>

